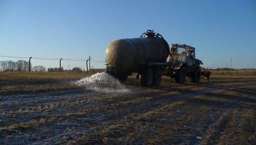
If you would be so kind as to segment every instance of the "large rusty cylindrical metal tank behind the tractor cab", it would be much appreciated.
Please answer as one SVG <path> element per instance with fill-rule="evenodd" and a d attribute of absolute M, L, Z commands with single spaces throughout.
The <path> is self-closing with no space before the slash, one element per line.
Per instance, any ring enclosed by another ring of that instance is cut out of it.
<path fill-rule="evenodd" d="M 106 73 L 128 76 L 138 71 L 140 64 L 165 62 L 169 56 L 169 44 L 160 34 L 148 30 L 139 38 L 116 39 L 106 48 Z"/>

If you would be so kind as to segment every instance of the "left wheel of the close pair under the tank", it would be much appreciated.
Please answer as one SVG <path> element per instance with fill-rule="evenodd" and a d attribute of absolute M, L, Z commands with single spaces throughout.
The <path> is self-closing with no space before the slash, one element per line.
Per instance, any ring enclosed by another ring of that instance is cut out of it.
<path fill-rule="evenodd" d="M 153 70 L 151 68 L 143 71 L 139 76 L 139 83 L 143 87 L 151 87 L 153 83 Z"/>

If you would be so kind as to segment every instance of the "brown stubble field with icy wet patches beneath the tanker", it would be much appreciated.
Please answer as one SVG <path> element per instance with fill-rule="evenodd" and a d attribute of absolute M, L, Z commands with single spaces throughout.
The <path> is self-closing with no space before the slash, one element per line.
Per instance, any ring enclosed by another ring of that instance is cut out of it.
<path fill-rule="evenodd" d="M 256 76 L 162 78 L 127 92 L 73 82 L 93 73 L 0 73 L 0 144 L 255 144 Z"/>

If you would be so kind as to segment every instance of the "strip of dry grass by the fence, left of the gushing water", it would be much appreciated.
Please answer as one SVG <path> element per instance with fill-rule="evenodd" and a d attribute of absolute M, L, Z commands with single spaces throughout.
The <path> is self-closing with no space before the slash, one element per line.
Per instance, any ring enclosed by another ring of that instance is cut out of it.
<path fill-rule="evenodd" d="M 0 94 L 50 92 L 74 89 L 71 80 L 91 76 L 93 73 L 71 72 L 0 72 Z"/>

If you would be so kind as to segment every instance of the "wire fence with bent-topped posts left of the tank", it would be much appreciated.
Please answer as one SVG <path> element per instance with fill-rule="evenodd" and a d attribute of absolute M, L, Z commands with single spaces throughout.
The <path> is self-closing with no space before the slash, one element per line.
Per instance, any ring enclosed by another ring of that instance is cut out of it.
<path fill-rule="evenodd" d="M 88 71 L 88 61 L 89 61 L 89 69 L 91 69 L 91 62 L 99 62 L 99 63 L 105 63 L 103 61 L 94 61 L 92 60 L 91 56 L 87 60 L 75 60 L 75 59 L 67 59 L 67 58 L 42 58 L 42 57 L 16 57 L 16 56 L 3 56 L 0 55 L 0 57 L 7 57 L 7 58 L 27 58 L 29 59 L 29 68 L 28 71 L 31 71 L 31 59 L 37 59 L 37 60 L 59 60 L 60 61 L 60 67 L 59 71 L 63 71 L 63 68 L 61 67 L 61 61 L 66 60 L 66 61 L 85 61 L 86 62 L 86 68 Z"/>

